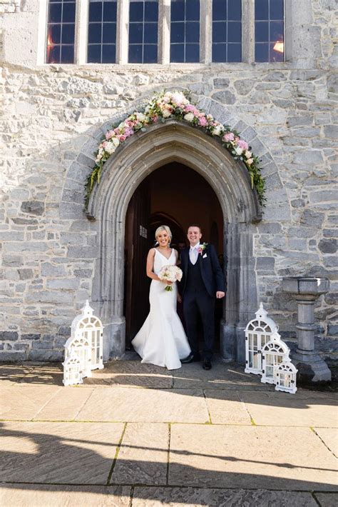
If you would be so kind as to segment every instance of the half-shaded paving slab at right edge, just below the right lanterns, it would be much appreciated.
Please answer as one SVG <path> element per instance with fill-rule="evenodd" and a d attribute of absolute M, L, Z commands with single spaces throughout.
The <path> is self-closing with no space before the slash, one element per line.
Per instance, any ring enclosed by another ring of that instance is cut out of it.
<path fill-rule="evenodd" d="M 337 427 L 337 401 L 332 393 L 240 392 L 256 424 L 265 426 Z"/>

